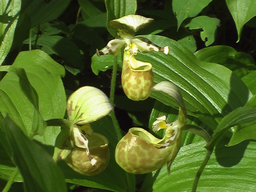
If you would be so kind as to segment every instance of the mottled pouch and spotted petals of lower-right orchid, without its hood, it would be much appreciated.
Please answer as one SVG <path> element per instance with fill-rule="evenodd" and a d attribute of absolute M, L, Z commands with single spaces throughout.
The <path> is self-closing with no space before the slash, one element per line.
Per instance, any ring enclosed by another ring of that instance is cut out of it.
<path fill-rule="evenodd" d="M 159 169 L 167 163 L 167 170 L 170 172 L 182 139 L 181 129 L 176 121 L 168 124 L 165 116 L 161 116 L 154 122 L 154 131 L 166 129 L 163 139 L 157 139 L 142 128 L 131 128 L 116 146 L 117 164 L 127 172 L 143 174 Z"/>

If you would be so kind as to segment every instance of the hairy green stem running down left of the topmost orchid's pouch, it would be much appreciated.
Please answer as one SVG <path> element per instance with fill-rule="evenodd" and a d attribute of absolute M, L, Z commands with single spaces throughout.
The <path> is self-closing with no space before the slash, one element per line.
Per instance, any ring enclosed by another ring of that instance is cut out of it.
<path fill-rule="evenodd" d="M 115 97 L 115 87 L 116 87 L 116 72 L 117 72 L 117 55 L 114 58 L 114 63 L 113 63 L 113 72 L 112 72 L 112 78 L 111 78 L 111 87 L 110 87 L 110 102 L 112 103 L 112 105 L 114 105 L 114 97 Z M 116 131 L 116 135 L 118 140 L 122 139 L 122 133 L 121 133 L 121 129 L 120 126 L 116 120 L 116 115 L 115 115 L 115 111 L 112 111 L 110 114 L 110 117 L 112 119 L 112 122 L 114 124 L 114 128 Z"/>

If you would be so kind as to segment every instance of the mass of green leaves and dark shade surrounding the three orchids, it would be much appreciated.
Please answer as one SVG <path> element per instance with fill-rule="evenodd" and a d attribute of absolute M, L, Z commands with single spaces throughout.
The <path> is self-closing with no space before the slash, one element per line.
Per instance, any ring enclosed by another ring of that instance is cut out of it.
<path fill-rule="evenodd" d="M 136 35 L 170 47 L 168 55 L 139 53 L 137 59 L 152 64 L 155 83 L 179 87 L 187 124 L 203 128 L 217 143 L 197 191 L 255 191 L 255 10 L 254 0 L 2 0 L 1 188 L 9 180 L 7 187 L 14 181 L 9 191 L 191 190 L 206 142 L 189 132 L 183 132 L 170 176 L 165 166 L 136 176 L 122 170 L 115 162 L 118 139 L 108 116 L 92 123 L 109 141 L 110 162 L 100 175 L 80 175 L 51 158 L 61 128 L 45 121 L 66 118 L 66 98 L 81 86 L 110 94 L 114 56 L 98 57 L 95 50 L 116 37 L 110 20 L 136 13 L 154 19 Z M 117 57 L 114 106 L 123 132 L 136 126 L 152 132 L 162 114 L 167 122 L 176 120 L 179 106 L 164 93 L 138 102 L 124 95 L 121 52 Z"/>

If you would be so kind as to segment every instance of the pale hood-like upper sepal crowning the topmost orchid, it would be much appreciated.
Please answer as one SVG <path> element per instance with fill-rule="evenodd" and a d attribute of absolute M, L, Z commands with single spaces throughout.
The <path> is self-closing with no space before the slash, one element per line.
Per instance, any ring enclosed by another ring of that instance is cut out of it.
<path fill-rule="evenodd" d="M 146 27 L 153 19 L 146 18 L 140 15 L 126 15 L 119 19 L 109 21 L 109 26 L 115 29 L 123 38 L 131 38 L 135 33 Z"/>

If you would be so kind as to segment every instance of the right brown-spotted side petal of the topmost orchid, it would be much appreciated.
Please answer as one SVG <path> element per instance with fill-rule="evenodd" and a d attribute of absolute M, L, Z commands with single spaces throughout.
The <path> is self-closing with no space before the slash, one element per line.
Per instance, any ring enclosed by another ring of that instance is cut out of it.
<path fill-rule="evenodd" d="M 149 39 L 145 37 L 133 38 L 132 42 L 135 43 L 138 46 L 138 50 L 143 53 L 151 51 L 160 51 L 164 52 L 167 55 L 170 52 L 170 48 L 168 46 L 159 47 L 158 45 L 152 43 Z"/>

